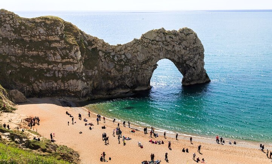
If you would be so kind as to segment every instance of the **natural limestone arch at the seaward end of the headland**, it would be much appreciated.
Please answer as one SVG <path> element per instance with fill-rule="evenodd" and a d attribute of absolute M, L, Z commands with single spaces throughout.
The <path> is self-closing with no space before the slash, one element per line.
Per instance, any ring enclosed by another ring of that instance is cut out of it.
<path fill-rule="evenodd" d="M 204 69 L 204 48 L 197 34 L 189 28 L 166 31 L 164 28 L 144 33 L 140 39 L 125 44 L 132 54 L 129 65 L 135 90 L 150 89 L 150 79 L 157 62 L 169 59 L 183 75 L 182 85 L 207 83 L 209 76 Z M 130 76 L 131 77 L 131 76 Z"/>

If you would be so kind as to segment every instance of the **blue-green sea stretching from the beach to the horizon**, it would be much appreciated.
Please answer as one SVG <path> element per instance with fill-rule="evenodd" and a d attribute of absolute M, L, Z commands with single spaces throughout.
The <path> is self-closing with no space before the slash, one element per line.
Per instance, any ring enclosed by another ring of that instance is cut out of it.
<path fill-rule="evenodd" d="M 109 44 L 157 28 L 188 27 L 205 49 L 211 82 L 183 87 L 168 59 L 158 62 L 150 91 L 90 102 L 96 113 L 181 134 L 272 143 L 272 12 L 15 12 L 53 15 Z"/>

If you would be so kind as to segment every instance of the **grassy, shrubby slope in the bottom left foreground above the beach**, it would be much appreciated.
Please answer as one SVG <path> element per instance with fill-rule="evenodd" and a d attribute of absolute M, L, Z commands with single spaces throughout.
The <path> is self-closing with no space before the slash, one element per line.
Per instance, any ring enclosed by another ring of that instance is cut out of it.
<path fill-rule="evenodd" d="M 31 132 L 31 131 L 28 131 Z M 47 139 L 29 140 L 28 133 L 0 127 L 0 163 L 79 163 L 79 154 L 67 146 L 58 146 Z M 35 134 L 37 134 L 35 132 Z M 3 136 L 3 137 L 2 137 Z"/>

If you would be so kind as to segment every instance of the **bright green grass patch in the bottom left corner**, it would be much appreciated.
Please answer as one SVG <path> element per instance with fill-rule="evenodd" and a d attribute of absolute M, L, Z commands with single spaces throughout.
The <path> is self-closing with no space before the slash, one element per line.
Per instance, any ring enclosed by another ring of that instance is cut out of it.
<path fill-rule="evenodd" d="M 51 156 L 38 155 L 32 151 L 22 150 L 0 143 L 1 164 L 69 164 L 67 161 L 57 160 Z"/>

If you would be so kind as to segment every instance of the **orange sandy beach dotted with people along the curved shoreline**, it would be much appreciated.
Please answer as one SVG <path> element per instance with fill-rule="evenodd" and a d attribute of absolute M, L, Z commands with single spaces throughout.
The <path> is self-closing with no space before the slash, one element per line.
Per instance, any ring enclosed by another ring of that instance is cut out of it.
<path fill-rule="evenodd" d="M 112 119 L 106 118 L 106 123 L 103 123 L 103 116 L 101 116 L 101 121 L 97 125 L 97 114 L 91 113 L 89 117 L 88 110 L 83 107 L 63 107 L 58 100 L 53 98 L 31 98 L 29 100 L 30 103 L 18 105 L 18 110 L 15 110 L 14 113 L 2 113 L 0 123 L 9 124 L 12 129 L 15 129 L 18 125 L 29 129 L 22 120 L 27 117 L 38 116 L 40 125 L 33 126 L 34 131 L 37 129 L 41 136 L 48 139 L 50 139 L 50 133 L 54 133 L 55 143 L 66 145 L 78 151 L 82 164 L 102 163 L 100 156 L 103 151 L 106 153 L 108 163 L 113 164 L 134 164 L 141 163 L 144 160 L 150 161 L 151 153 L 154 154 L 154 159 L 161 160 L 161 163 L 191 164 L 196 163 L 192 159 L 194 152 L 196 158 L 204 158 L 205 163 L 209 164 L 271 163 L 271 159 L 266 157 L 266 150 L 272 151 L 271 145 L 265 145 L 264 152 L 262 152 L 258 150 L 260 143 L 236 141 L 236 145 L 230 145 L 225 139 L 225 144 L 221 145 L 216 143 L 214 136 L 214 139 L 193 137 L 193 144 L 191 144 L 189 136 L 179 135 L 178 140 L 176 140 L 173 134 L 166 134 L 166 139 L 164 139 L 162 133 L 159 133 L 157 138 L 153 137 L 152 140 L 163 140 L 164 144 L 152 144 L 149 142 L 151 127 L 148 127 L 148 134 L 144 134 L 142 128 L 132 126 L 133 122 L 131 122 L 131 128 L 139 129 L 139 131 L 132 133 L 130 132 L 132 129 L 128 128 L 128 120 L 126 120 L 126 127 L 123 126 L 123 122 L 119 122 L 120 129 L 122 136 L 132 139 L 126 141 L 126 145 L 123 145 L 121 138 L 121 142 L 118 144 L 117 135 L 115 134 L 115 137 L 112 135 L 118 121 L 113 123 Z M 72 124 L 72 118 L 65 113 L 66 111 L 74 116 L 74 124 Z M 78 119 L 78 113 L 82 115 L 82 120 Z M 84 122 L 84 118 L 88 121 Z M 89 130 L 89 126 L 85 126 L 85 123 L 93 123 L 93 129 Z M 106 129 L 102 129 L 101 126 L 105 126 Z M 109 144 L 107 145 L 102 140 L 104 132 L 109 137 Z M 143 148 L 138 146 L 138 141 L 142 143 Z M 168 141 L 171 141 L 171 150 L 168 149 Z M 199 145 L 201 145 L 201 153 L 197 152 Z M 182 152 L 182 148 L 188 148 L 189 153 Z M 166 152 L 168 153 L 168 162 L 164 160 Z M 111 157 L 111 160 L 109 160 L 109 157 Z"/>

